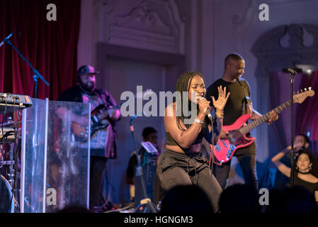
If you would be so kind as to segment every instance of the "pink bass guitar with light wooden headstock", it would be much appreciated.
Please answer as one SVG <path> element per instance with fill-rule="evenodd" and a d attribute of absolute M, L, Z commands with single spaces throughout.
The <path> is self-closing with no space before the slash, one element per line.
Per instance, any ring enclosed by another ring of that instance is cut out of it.
<path fill-rule="evenodd" d="M 295 94 L 293 99 L 295 103 L 301 104 L 307 98 L 307 96 L 314 96 L 314 91 L 311 89 L 311 87 L 308 90 L 305 89 L 305 92 Z M 283 111 L 283 109 L 290 106 L 290 103 L 290 100 L 286 101 L 284 104 L 276 107 L 276 109 L 273 109 L 273 111 L 279 114 L 281 111 Z M 240 116 L 232 125 L 223 126 L 223 130 L 229 132 L 229 134 L 227 134 L 227 138 L 220 138 L 217 140 L 217 144 L 214 146 L 214 148 L 212 145 L 210 145 L 210 148 L 213 151 L 216 159 L 221 163 L 228 162 L 232 159 L 237 149 L 245 148 L 248 145 L 251 145 L 255 138 L 246 137 L 246 133 L 249 133 L 249 131 L 261 125 L 261 123 L 268 121 L 268 119 L 271 118 L 270 112 L 271 111 L 247 125 L 245 125 L 245 123 L 249 120 L 249 118 L 251 118 L 251 114 L 244 114 Z"/>

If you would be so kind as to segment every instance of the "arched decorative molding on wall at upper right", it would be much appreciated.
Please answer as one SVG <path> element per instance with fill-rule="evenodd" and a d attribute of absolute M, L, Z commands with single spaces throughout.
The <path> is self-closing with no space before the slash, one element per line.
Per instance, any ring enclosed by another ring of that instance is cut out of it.
<path fill-rule="evenodd" d="M 291 24 L 273 28 L 256 41 L 251 52 L 259 62 L 256 71 L 261 72 L 278 71 L 296 64 L 318 65 L 318 26 Z"/>

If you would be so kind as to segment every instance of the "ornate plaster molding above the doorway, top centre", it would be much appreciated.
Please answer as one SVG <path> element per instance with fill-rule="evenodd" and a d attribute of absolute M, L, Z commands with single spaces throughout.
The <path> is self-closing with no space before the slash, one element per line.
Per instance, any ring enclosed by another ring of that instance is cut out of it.
<path fill-rule="evenodd" d="M 107 43 L 184 54 L 185 23 L 175 0 L 147 0 L 109 25 Z"/>

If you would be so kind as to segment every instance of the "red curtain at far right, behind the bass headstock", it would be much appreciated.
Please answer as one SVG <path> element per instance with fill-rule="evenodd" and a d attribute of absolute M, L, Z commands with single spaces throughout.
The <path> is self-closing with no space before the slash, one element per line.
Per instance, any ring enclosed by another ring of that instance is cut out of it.
<path fill-rule="evenodd" d="M 307 134 L 312 141 L 312 150 L 318 155 L 318 71 L 312 72 L 302 79 L 302 88 L 312 87 L 315 94 L 307 97 L 302 103 L 302 108 L 297 111 L 296 132 Z"/>

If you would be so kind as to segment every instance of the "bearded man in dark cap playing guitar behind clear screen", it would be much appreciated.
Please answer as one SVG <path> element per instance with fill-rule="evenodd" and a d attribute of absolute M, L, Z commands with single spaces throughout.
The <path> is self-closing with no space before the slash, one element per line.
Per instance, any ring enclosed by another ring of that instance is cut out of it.
<path fill-rule="evenodd" d="M 112 109 L 116 106 L 113 96 L 104 89 L 96 89 L 96 72 L 90 65 L 83 65 L 77 72 L 78 84 L 67 89 L 59 96 L 59 101 L 76 101 L 91 104 L 91 110 L 98 108 L 98 114 L 103 116 L 99 118 L 101 124 L 107 125 L 91 135 L 91 175 L 90 175 L 90 209 L 91 211 L 103 211 L 105 199 L 101 195 L 103 185 L 103 175 L 106 170 L 106 160 L 108 158 L 117 157 L 116 137 L 117 131 L 115 122 L 120 120 L 120 109 Z M 101 109 L 100 106 L 103 106 Z M 67 114 L 67 109 L 59 108 L 56 111 L 59 118 L 63 118 Z M 88 110 L 83 110 L 82 113 L 72 114 L 74 123 L 79 126 L 83 121 L 87 121 Z M 86 116 L 85 118 L 83 116 Z M 85 120 L 84 120 L 85 119 Z M 83 124 L 83 123 L 82 123 Z M 74 132 L 76 135 L 76 132 Z M 76 143 L 83 145 L 84 143 Z"/>

